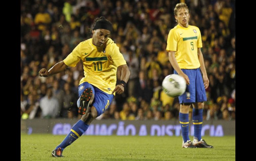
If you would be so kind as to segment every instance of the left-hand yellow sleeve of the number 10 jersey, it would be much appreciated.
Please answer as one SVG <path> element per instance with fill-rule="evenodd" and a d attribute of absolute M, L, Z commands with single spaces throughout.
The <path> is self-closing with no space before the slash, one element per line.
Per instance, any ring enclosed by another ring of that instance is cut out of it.
<path fill-rule="evenodd" d="M 75 67 L 76 64 L 79 62 L 79 60 L 81 59 L 80 45 L 81 43 L 79 43 L 73 49 L 73 51 L 69 55 L 67 55 L 67 57 L 63 60 L 67 66 Z"/>

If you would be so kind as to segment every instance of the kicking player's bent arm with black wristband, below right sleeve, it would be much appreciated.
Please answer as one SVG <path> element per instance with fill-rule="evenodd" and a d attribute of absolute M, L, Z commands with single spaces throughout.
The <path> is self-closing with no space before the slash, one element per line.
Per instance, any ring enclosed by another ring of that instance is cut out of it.
<path fill-rule="evenodd" d="M 120 65 L 119 67 L 117 67 L 117 70 L 121 71 L 121 81 L 124 81 L 125 84 L 126 84 L 128 82 L 129 77 L 130 77 L 130 70 L 129 70 L 127 64 Z M 114 92 L 116 92 L 119 95 L 122 94 L 124 92 L 125 84 L 120 82 L 120 84 L 116 85 L 116 88 L 113 90 L 112 94 Z"/>

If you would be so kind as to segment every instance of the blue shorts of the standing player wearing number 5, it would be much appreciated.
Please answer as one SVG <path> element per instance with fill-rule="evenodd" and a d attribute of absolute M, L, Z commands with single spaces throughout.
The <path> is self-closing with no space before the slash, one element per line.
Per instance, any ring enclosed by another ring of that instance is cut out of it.
<path fill-rule="evenodd" d="M 190 85 L 187 85 L 185 93 L 179 96 L 180 104 L 207 101 L 200 68 L 181 70 L 189 77 Z M 174 70 L 174 74 L 178 73 Z"/>

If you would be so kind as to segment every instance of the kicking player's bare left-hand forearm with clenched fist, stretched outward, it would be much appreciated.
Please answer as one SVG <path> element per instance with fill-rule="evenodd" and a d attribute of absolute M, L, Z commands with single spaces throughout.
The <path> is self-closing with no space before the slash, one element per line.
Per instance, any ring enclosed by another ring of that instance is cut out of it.
<path fill-rule="evenodd" d="M 64 61 L 58 62 L 55 64 L 51 69 L 47 70 L 46 68 L 41 69 L 38 72 L 38 75 L 41 77 L 48 77 L 53 74 L 60 73 L 66 69 L 67 65 L 64 63 Z"/>

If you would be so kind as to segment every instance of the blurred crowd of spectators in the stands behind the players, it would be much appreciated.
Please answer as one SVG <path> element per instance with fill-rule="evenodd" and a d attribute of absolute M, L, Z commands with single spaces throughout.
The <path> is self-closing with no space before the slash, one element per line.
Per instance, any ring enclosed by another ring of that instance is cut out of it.
<path fill-rule="evenodd" d="M 113 24 L 110 38 L 131 75 L 125 93 L 116 95 L 98 119 L 178 119 L 179 100 L 167 96 L 161 84 L 173 74 L 166 44 L 177 25 L 173 11 L 180 2 L 190 9 L 189 24 L 201 31 L 210 82 L 203 119 L 235 120 L 235 0 L 22 0 L 21 119 L 81 117 L 76 106 L 84 76 L 81 61 L 47 78 L 38 72 L 91 38 L 89 28 L 100 16 Z M 117 83 L 119 78 L 118 71 Z"/>

